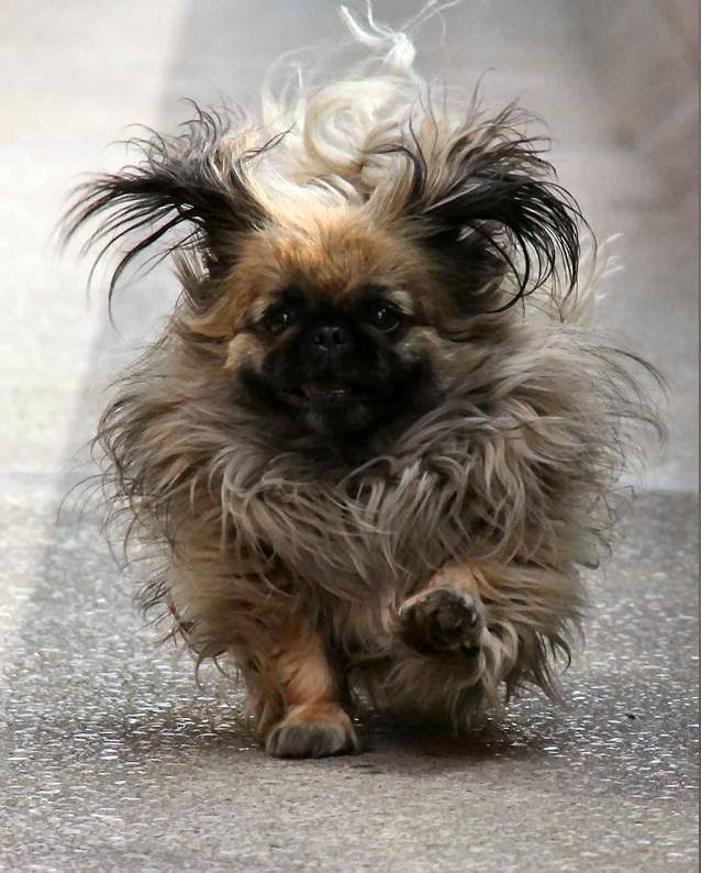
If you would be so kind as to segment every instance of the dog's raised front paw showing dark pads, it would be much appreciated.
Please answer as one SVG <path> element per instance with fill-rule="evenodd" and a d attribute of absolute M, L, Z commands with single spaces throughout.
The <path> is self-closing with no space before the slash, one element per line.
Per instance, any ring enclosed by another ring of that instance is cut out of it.
<path fill-rule="evenodd" d="M 399 611 L 400 639 L 421 654 L 474 657 L 483 629 L 481 601 L 460 588 L 430 588 Z"/>

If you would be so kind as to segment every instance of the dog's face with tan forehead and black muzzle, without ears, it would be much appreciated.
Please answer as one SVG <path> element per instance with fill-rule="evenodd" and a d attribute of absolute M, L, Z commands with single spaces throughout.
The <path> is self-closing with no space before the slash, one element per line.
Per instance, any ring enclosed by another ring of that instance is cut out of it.
<path fill-rule="evenodd" d="M 425 257 L 360 212 L 304 224 L 252 235 L 225 281 L 245 400 L 338 439 L 418 415 L 439 390 Z"/>

